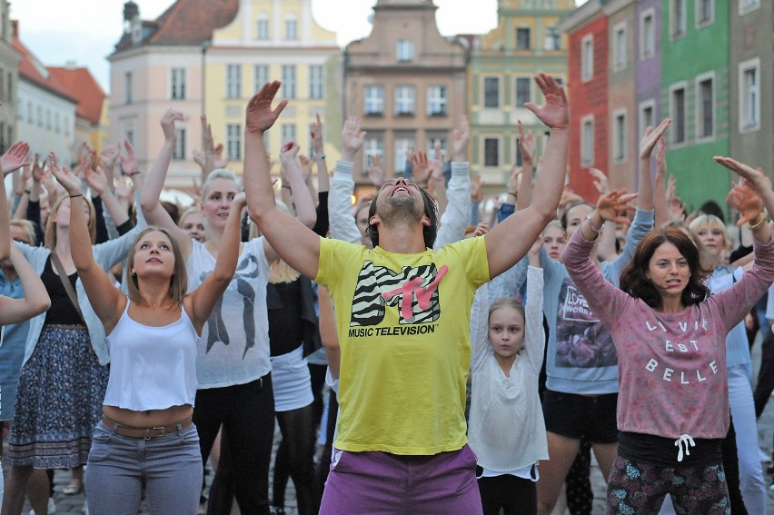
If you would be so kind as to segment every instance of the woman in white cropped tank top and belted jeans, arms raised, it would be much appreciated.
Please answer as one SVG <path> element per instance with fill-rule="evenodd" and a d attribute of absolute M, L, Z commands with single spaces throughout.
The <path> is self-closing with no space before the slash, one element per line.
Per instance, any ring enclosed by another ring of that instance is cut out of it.
<path fill-rule="evenodd" d="M 239 215 L 233 200 L 213 272 L 190 294 L 180 249 L 164 230 L 137 235 L 127 258 L 129 295 L 114 288 L 94 261 L 80 182 L 52 160 L 73 204 L 73 262 L 108 335 L 111 369 L 103 418 L 94 430 L 86 472 L 93 515 L 139 510 L 193 515 L 203 477 L 191 421 L 196 395 L 196 342 L 236 268 Z"/>

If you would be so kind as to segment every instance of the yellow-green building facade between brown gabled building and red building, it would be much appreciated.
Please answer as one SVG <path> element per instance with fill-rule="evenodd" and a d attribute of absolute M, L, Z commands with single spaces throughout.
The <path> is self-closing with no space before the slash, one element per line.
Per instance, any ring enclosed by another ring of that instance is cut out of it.
<path fill-rule="evenodd" d="M 521 166 L 517 120 L 533 131 L 542 154 L 547 128 L 523 105 L 541 103 L 535 74 L 567 82 L 568 39 L 557 24 L 574 8 L 574 0 L 500 0 L 497 28 L 475 37 L 468 68 L 470 159 L 484 183 L 501 187 L 511 166 Z"/>

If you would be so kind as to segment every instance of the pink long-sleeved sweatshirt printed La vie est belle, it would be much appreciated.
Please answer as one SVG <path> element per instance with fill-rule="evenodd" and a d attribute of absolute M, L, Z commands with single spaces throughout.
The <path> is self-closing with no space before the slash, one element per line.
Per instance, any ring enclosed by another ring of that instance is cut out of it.
<path fill-rule="evenodd" d="M 726 334 L 774 282 L 774 238 L 754 243 L 741 281 L 679 313 L 657 312 L 605 281 L 593 242 L 573 234 L 561 254 L 618 352 L 618 429 L 664 438 L 724 438 L 729 430 Z"/>

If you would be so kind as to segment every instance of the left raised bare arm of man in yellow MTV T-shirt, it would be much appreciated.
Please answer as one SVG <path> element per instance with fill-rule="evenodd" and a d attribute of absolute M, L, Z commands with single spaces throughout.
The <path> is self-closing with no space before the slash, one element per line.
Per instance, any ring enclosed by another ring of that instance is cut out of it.
<path fill-rule="evenodd" d="M 265 84 L 247 104 L 244 125 L 244 190 L 250 217 L 258 225 L 284 262 L 314 279 L 320 265 L 320 237 L 311 229 L 277 209 L 272 186 L 271 164 L 263 145 L 263 134 L 283 112 L 287 101 L 272 109 L 280 82 Z"/>

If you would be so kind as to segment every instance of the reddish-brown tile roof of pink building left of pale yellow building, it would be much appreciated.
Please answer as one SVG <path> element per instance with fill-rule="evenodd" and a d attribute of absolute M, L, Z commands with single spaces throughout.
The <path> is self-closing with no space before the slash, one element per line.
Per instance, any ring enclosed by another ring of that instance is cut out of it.
<path fill-rule="evenodd" d="M 143 22 L 142 45 L 201 45 L 238 10 L 239 0 L 177 0 L 153 22 Z M 132 35 L 124 34 L 115 51 L 131 47 Z"/>

